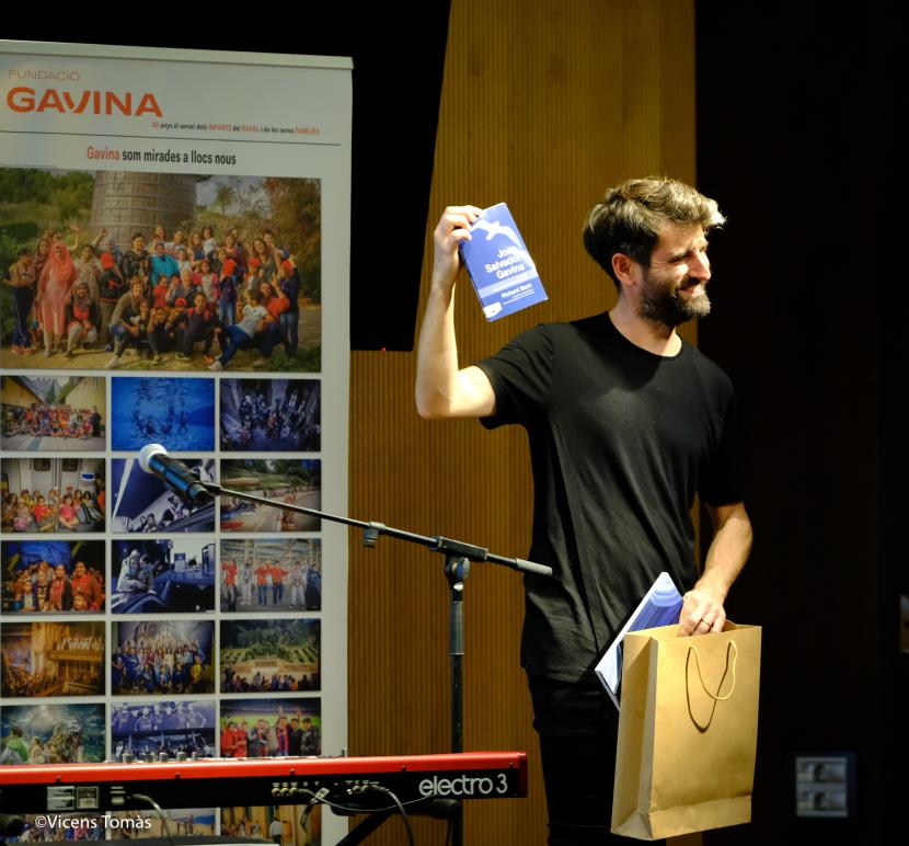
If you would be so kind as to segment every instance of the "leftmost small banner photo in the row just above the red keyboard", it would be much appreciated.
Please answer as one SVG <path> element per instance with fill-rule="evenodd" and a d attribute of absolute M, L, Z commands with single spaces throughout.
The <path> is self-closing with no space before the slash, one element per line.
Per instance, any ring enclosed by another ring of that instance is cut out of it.
<path fill-rule="evenodd" d="M 0 708 L 0 764 L 95 764 L 104 740 L 101 704 Z"/>

